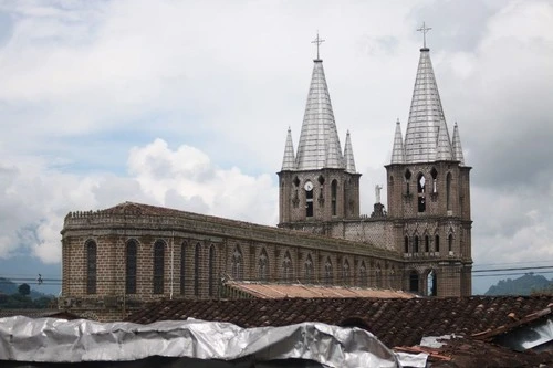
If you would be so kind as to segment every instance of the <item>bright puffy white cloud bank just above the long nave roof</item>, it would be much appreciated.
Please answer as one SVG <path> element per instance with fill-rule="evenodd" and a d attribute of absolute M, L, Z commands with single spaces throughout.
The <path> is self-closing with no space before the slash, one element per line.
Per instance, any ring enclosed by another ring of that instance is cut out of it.
<path fill-rule="evenodd" d="M 103 209 L 124 201 L 167 206 L 272 224 L 276 189 L 268 175 L 251 177 L 221 169 L 197 148 L 168 148 L 161 139 L 134 147 L 129 177 L 77 176 L 41 160 L 0 161 L 0 257 L 30 252 L 44 263 L 61 261 L 60 231 L 69 211 Z"/>

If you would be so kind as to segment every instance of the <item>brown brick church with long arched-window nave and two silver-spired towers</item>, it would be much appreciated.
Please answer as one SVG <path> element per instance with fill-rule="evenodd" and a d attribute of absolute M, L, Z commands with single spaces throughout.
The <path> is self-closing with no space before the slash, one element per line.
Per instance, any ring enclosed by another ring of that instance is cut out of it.
<path fill-rule="evenodd" d="M 158 298 L 230 297 L 228 282 L 471 294 L 470 167 L 449 136 L 429 50 L 420 50 L 407 132 L 396 125 L 387 207 L 359 213 L 349 133 L 342 146 L 322 60 L 314 60 L 294 151 L 289 129 L 276 228 L 125 202 L 70 212 L 62 307 L 117 319 Z"/>

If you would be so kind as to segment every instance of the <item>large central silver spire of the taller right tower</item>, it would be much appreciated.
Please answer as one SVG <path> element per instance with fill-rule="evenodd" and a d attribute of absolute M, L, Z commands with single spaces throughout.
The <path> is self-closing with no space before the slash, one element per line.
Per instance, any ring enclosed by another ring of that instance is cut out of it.
<path fill-rule="evenodd" d="M 440 129 L 444 129 L 441 139 L 438 138 Z M 446 118 L 441 107 L 438 85 L 434 75 L 430 50 L 420 49 L 420 59 L 413 91 L 409 120 L 405 134 L 405 161 L 429 162 L 437 157 L 438 143 L 446 144 L 447 134 Z M 446 154 L 447 147 L 440 149 Z M 451 147 L 449 147 L 451 149 Z"/>

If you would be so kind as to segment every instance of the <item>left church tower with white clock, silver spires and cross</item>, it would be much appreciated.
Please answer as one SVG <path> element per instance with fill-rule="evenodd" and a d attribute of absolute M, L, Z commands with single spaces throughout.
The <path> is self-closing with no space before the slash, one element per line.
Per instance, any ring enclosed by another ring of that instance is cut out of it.
<path fill-rule="evenodd" d="M 294 155 L 289 128 L 279 175 L 279 227 L 326 233 L 325 223 L 359 217 L 359 177 L 347 133 L 342 151 L 323 61 L 313 61 L 305 114 Z"/>

